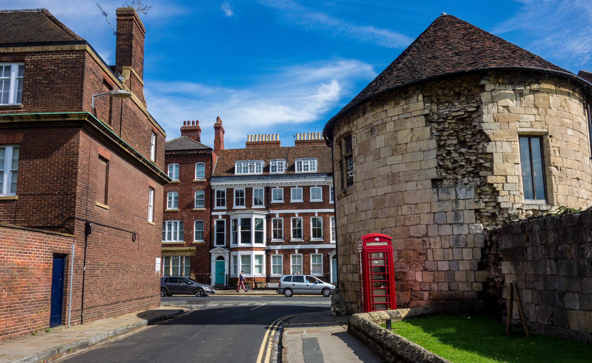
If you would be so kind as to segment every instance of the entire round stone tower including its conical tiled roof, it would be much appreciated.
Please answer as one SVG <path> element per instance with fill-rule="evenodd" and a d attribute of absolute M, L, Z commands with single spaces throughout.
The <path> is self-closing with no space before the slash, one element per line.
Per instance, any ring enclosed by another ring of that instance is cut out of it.
<path fill-rule="evenodd" d="M 361 235 L 392 236 L 397 306 L 482 310 L 497 285 L 484 227 L 592 205 L 580 74 L 442 14 L 327 122 L 350 312 Z"/>

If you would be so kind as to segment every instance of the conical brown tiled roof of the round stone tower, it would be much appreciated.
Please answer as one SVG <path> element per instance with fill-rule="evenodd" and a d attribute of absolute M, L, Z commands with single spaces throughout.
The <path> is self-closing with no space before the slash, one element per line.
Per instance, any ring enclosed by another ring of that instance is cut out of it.
<path fill-rule="evenodd" d="M 452 15 L 440 15 L 385 70 L 325 125 L 332 135 L 339 116 L 367 99 L 401 86 L 446 74 L 485 69 L 533 69 L 575 74 L 555 66 L 536 54 L 487 33 Z"/>

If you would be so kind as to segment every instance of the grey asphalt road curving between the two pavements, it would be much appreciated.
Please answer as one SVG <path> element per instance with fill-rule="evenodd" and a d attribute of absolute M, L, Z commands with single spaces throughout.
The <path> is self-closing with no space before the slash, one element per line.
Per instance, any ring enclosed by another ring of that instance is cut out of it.
<path fill-rule="evenodd" d="M 266 327 L 282 316 L 330 309 L 331 298 L 172 296 L 161 303 L 197 310 L 59 361 L 255 362 Z"/>

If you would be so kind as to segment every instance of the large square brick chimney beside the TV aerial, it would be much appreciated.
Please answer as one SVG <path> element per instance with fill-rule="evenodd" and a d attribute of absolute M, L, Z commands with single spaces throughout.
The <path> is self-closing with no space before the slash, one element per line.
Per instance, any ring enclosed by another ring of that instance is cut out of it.
<path fill-rule="evenodd" d="M 116 73 L 121 73 L 128 89 L 144 101 L 144 34 L 146 28 L 134 8 L 117 8 L 115 40 Z"/>

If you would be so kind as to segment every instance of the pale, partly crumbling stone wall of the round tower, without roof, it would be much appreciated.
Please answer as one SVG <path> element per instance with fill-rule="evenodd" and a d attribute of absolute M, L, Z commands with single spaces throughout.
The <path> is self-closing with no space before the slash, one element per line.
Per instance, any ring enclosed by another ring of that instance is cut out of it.
<path fill-rule="evenodd" d="M 591 202 L 580 90 L 536 74 L 473 73 L 376 96 L 334 127 L 352 136 L 352 186 L 336 190 L 343 299 L 359 311 L 356 241 L 392 237 L 397 306 L 480 310 L 488 270 L 482 230 L 552 206 Z M 543 141 L 546 200 L 523 198 L 519 135 Z"/>

